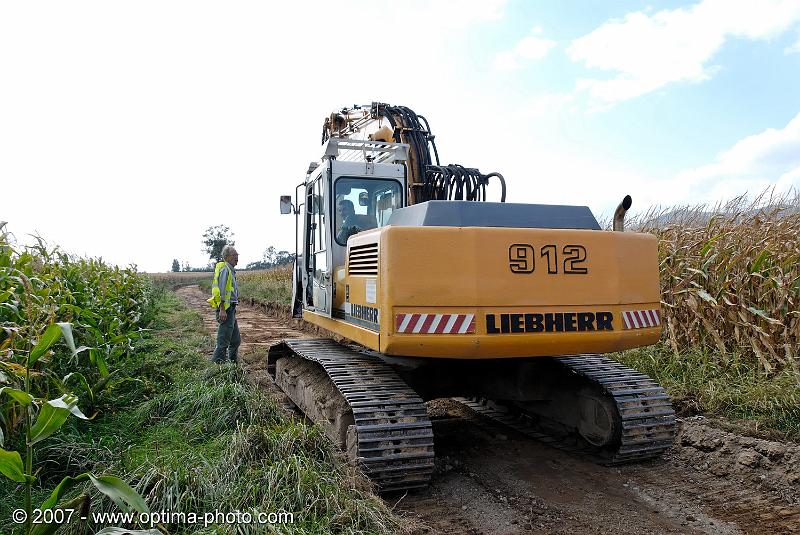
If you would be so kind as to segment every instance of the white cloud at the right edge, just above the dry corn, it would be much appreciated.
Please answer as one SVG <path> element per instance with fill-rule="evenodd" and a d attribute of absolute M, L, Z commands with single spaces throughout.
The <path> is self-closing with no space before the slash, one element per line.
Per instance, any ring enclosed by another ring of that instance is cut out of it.
<path fill-rule="evenodd" d="M 784 128 L 748 136 L 714 162 L 679 173 L 668 189 L 673 196 L 713 203 L 772 186 L 800 189 L 800 113 Z"/>

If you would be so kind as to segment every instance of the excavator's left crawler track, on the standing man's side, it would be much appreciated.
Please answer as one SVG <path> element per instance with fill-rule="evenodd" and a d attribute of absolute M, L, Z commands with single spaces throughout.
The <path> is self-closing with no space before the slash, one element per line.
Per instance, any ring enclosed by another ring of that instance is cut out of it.
<path fill-rule="evenodd" d="M 381 492 L 426 487 L 434 468 L 433 429 L 425 403 L 378 357 L 331 339 L 284 340 L 268 354 L 318 363 L 353 411 L 356 460 Z"/>

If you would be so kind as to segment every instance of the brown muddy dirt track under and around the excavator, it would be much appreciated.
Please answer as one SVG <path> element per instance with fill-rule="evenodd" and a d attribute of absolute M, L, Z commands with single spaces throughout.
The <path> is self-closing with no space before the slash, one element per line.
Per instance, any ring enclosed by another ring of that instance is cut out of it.
<path fill-rule="evenodd" d="M 177 291 L 216 331 L 206 296 Z M 266 372 L 275 340 L 319 336 L 288 307 L 241 304 L 242 366 L 276 391 Z M 277 393 L 277 392 L 276 392 Z M 279 394 L 278 394 L 279 395 Z M 800 533 L 800 446 L 680 421 L 675 447 L 657 461 L 604 467 L 497 425 L 452 400 L 428 404 L 437 466 L 424 491 L 385 497 L 418 518 L 419 533 Z"/>

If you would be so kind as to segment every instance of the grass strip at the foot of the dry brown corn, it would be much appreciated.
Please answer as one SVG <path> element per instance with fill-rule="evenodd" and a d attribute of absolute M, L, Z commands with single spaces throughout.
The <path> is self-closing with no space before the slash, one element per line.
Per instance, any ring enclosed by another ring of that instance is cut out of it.
<path fill-rule="evenodd" d="M 701 350 L 676 355 L 665 343 L 614 355 L 663 385 L 678 407 L 754 422 L 800 438 L 800 374 L 770 375 L 736 355 Z"/>

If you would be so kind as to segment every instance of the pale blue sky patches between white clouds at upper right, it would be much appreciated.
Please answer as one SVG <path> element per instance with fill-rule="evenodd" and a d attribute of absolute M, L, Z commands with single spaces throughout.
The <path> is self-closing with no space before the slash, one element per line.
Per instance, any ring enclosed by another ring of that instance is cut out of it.
<path fill-rule="evenodd" d="M 569 93 L 581 78 L 613 76 L 571 61 L 566 50 L 572 41 L 630 13 L 654 16 L 699 3 L 594 4 L 589 8 L 586 2 L 510 2 L 507 16 L 472 40 L 469 50 L 490 63 L 498 48 L 513 48 L 538 27 L 538 35 L 555 42 L 553 48 L 538 61 L 495 73 L 494 90 L 512 102 L 536 94 Z M 653 176 L 666 178 L 703 165 L 745 136 L 785 126 L 800 111 L 800 51 L 785 52 L 798 41 L 796 23 L 769 38 L 727 38 L 706 62 L 712 71 L 707 80 L 665 84 L 595 113 L 562 114 L 560 131 L 554 135 L 567 137 L 566 142 L 571 138 L 587 152 L 624 158 Z"/>

